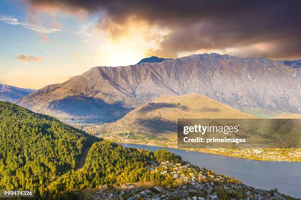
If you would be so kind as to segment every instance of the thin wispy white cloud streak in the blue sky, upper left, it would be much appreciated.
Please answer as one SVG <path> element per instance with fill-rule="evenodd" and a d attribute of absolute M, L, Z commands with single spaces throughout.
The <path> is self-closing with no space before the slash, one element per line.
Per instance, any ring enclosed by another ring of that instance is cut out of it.
<path fill-rule="evenodd" d="M 10 24 L 10 25 L 19 25 L 24 28 L 29 28 L 29 29 L 39 32 L 41 34 L 44 34 L 44 33 L 47 34 L 47 33 L 53 33 L 56 31 L 60 31 L 60 29 L 57 29 L 57 28 L 47 28 L 47 27 L 43 27 L 43 26 L 39 26 L 39 25 L 33 25 L 30 23 L 21 22 L 17 18 L 9 17 L 9 16 L 0 16 L 0 21 L 3 23 L 6 23 L 6 24 Z M 42 35 L 41 35 L 41 37 L 42 37 Z"/>

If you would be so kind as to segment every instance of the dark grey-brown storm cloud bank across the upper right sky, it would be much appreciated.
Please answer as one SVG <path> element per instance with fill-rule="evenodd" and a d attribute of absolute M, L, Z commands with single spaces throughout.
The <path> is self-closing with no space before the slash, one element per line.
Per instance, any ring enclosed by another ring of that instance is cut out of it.
<path fill-rule="evenodd" d="M 268 50 L 245 50 L 250 56 L 301 57 L 299 0 L 29 0 L 31 7 L 101 13 L 123 25 L 129 17 L 172 30 L 161 43 L 160 56 L 177 52 L 223 50 L 258 43 Z M 105 18 L 103 18 L 105 19 Z M 101 21 L 102 19 L 100 19 Z M 106 27 L 108 28 L 110 23 Z M 108 28 L 110 29 L 110 28 Z M 248 52 L 247 52 L 248 51 Z"/>

